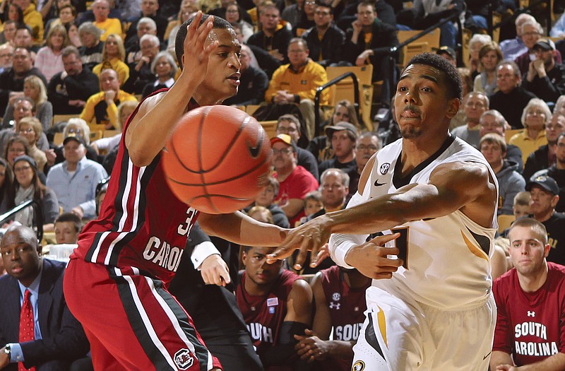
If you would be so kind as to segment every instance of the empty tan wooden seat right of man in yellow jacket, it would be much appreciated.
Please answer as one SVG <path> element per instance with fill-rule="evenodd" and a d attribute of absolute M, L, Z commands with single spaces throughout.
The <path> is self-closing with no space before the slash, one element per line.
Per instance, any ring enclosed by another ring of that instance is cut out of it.
<path fill-rule="evenodd" d="M 359 83 L 359 114 L 363 119 L 367 129 L 373 129 L 373 119 L 371 117 L 371 107 L 373 104 L 373 65 L 367 66 L 350 66 L 350 67 L 328 67 L 326 73 L 328 74 L 328 81 L 333 80 L 343 73 L 352 72 L 357 76 Z M 334 88 L 330 90 L 330 105 L 335 107 L 335 104 L 340 100 L 347 99 L 350 102 L 355 102 L 355 93 L 353 91 L 353 81 L 351 78 L 344 78 L 339 83 L 336 83 Z"/>

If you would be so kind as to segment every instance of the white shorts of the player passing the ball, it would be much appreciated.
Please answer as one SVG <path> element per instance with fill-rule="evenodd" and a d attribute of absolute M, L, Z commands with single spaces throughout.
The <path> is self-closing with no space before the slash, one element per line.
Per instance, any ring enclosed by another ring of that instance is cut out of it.
<path fill-rule="evenodd" d="M 485 371 L 496 304 L 492 294 L 465 310 L 439 310 L 372 286 L 352 371 Z"/>

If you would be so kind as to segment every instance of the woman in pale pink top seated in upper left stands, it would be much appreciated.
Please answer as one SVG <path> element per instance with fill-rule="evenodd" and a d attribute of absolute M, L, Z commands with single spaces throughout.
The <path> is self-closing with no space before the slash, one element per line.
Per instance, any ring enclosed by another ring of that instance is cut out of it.
<path fill-rule="evenodd" d="M 39 49 L 35 67 L 50 81 L 57 73 L 64 71 L 62 52 L 70 44 L 64 25 L 57 25 L 47 33 L 47 45 Z"/>

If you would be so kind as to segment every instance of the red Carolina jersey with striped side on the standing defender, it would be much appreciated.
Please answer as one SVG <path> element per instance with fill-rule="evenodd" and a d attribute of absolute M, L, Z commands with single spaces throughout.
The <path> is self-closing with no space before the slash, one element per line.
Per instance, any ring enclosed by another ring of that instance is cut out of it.
<path fill-rule="evenodd" d="M 177 271 L 198 211 L 172 193 L 161 153 L 147 166 L 131 162 L 126 131 L 139 107 L 126 122 L 100 215 L 83 228 L 71 259 L 138 271 L 167 284 Z M 191 100 L 189 110 L 196 107 Z M 155 130 L 158 126 L 155 123 Z"/>

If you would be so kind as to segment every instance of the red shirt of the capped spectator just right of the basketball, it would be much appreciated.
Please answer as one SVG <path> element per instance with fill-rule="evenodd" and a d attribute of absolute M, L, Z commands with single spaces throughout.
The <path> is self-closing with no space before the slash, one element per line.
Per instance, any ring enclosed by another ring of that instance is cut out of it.
<path fill-rule="evenodd" d="M 273 176 L 276 178 L 277 173 Z M 280 181 L 279 181 L 280 182 Z M 278 195 L 275 197 L 275 204 L 284 205 L 289 199 L 301 199 L 306 197 L 308 192 L 318 189 L 318 181 L 311 175 L 311 173 L 304 169 L 304 167 L 297 165 L 287 179 L 280 182 Z M 295 223 L 304 216 L 304 209 L 302 209 L 294 218 L 289 218 L 290 226 L 293 227 Z"/>

